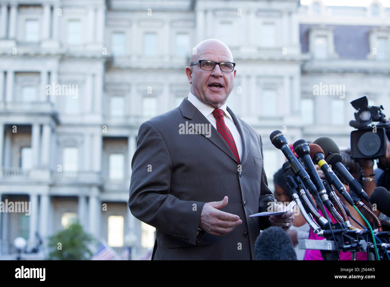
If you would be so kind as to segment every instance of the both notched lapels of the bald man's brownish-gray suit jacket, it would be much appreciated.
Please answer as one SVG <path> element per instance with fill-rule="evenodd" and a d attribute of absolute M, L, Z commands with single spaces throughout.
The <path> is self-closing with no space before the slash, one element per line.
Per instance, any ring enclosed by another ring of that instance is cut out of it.
<path fill-rule="evenodd" d="M 184 98 L 184 100 L 183 100 L 183 102 L 181 102 L 179 108 L 180 108 L 183 116 L 190 119 L 190 121 L 188 122 L 188 125 L 190 125 L 192 123 L 194 125 L 194 129 L 197 130 L 197 132 L 199 134 L 202 131 L 198 130 L 197 125 L 195 125 L 195 124 L 205 124 L 205 125 L 210 124 L 211 125 L 209 120 L 206 119 L 206 117 L 187 98 Z M 238 118 L 233 114 L 233 112 L 231 112 L 231 110 L 229 108 L 227 108 L 227 109 L 228 109 L 229 113 L 231 114 L 232 118 L 234 119 L 234 123 L 236 124 L 238 132 L 239 132 L 241 139 L 243 141 L 243 159 L 242 160 L 240 159 L 241 165 L 243 165 L 245 160 L 246 160 L 245 152 L 247 153 L 247 150 L 248 150 L 244 144 L 246 141 L 245 141 L 243 129 L 246 130 L 246 128 L 242 127 Z M 248 133 L 248 130 L 246 130 L 246 133 Z M 205 134 L 202 134 L 202 135 L 204 137 L 206 137 Z M 218 130 L 216 130 L 216 128 L 213 125 L 211 125 L 210 137 L 206 137 L 206 139 L 211 141 L 218 148 L 220 148 L 220 150 L 222 150 L 224 153 L 226 153 L 231 159 L 233 159 L 237 162 L 236 157 L 234 156 L 233 152 L 230 150 L 229 146 L 227 145 L 227 143 L 225 142 L 223 137 L 220 135 Z"/>

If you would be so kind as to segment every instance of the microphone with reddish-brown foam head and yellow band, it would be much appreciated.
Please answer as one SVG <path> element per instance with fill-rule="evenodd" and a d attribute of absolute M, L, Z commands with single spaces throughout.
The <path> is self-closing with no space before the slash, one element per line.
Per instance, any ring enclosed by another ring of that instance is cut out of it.
<path fill-rule="evenodd" d="M 324 172 L 326 179 L 328 180 L 329 184 L 333 184 L 337 191 L 344 196 L 346 201 L 350 205 L 355 205 L 353 202 L 351 196 L 347 193 L 344 185 L 340 182 L 339 178 L 333 173 L 332 169 L 328 166 L 326 161 L 324 160 L 324 152 L 322 148 L 318 144 L 310 144 L 310 157 L 312 158 L 313 162 L 315 164 L 318 164 L 321 170 Z"/>

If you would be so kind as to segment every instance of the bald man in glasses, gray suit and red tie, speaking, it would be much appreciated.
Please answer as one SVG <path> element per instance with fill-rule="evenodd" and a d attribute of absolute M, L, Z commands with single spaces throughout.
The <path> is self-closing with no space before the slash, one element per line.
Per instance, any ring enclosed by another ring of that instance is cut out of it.
<path fill-rule="evenodd" d="M 236 77 L 230 49 L 207 39 L 195 51 L 188 97 L 138 131 L 129 208 L 156 227 L 152 260 L 255 260 L 260 230 L 287 230 L 294 216 L 249 217 L 275 201 L 262 140 L 226 106 Z"/>

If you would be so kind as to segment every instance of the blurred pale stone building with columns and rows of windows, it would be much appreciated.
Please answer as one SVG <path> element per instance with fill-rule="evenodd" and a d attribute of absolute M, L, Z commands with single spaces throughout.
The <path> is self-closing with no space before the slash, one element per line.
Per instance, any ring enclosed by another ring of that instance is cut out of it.
<path fill-rule="evenodd" d="M 0 0 L 0 201 L 31 204 L 29 216 L 0 212 L 0 259 L 16 237 L 30 250 L 36 232 L 76 219 L 118 253 L 153 247 L 154 228 L 128 208 L 138 128 L 188 96 L 184 68 L 203 39 L 232 50 L 227 103 L 262 135 L 270 183 L 284 162 L 273 130 L 349 146 L 351 100 L 390 107 L 389 16 L 376 0 Z"/>

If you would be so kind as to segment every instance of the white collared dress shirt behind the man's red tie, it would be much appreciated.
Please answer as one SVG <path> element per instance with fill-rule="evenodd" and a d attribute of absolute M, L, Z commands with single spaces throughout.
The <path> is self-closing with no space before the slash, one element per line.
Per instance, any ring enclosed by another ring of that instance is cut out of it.
<path fill-rule="evenodd" d="M 200 101 L 196 96 L 194 96 L 191 92 L 188 94 L 187 99 L 206 117 L 206 119 L 209 120 L 211 125 L 213 125 L 213 127 L 215 127 L 216 129 L 217 123 L 216 123 L 216 119 L 213 116 L 213 111 L 215 110 L 215 108 L 206 105 L 204 102 Z M 238 156 L 241 161 L 241 156 L 243 154 L 243 144 L 241 141 L 241 136 L 237 130 L 236 125 L 234 124 L 232 116 L 230 116 L 229 112 L 226 110 L 226 103 L 224 103 L 222 107 L 220 107 L 220 109 L 225 113 L 223 115 L 223 119 L 225 120 L 225 124 L 227 128 L 229 128 L 230 132 L 233 135 L 234 141 L 236 142 Z"/>

